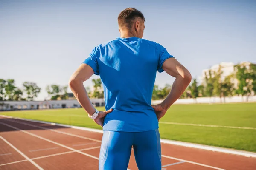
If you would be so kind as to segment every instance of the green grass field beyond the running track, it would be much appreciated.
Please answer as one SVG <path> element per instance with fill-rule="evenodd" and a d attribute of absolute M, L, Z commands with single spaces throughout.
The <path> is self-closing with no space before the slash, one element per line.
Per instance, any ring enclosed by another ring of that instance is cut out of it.
<path fill-rule="evenodd" d="M 105 108 L 97 108 L 105 110 Z M 2 115 L 101 129 L 82 109 L 0 112 Z M 256 103 L 173 105 L 160 120 L 161 138 L 256 152 L 256 130 L 161 122 L 256 128 Z"/>

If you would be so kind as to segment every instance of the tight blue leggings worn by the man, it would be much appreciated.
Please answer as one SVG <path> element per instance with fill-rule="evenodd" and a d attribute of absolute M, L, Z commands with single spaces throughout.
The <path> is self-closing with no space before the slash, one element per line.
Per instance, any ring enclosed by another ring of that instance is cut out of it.
<path fill-rule="evenodd" d="M 145 132 L 104 131 L 99 170 L 127 170 L 132 146 L 139 170 L 161 170 L 158 129 Z"/>

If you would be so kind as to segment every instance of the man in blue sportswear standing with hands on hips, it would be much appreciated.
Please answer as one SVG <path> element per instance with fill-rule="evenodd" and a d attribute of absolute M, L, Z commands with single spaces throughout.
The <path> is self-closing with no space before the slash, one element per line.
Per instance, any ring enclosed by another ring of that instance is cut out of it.
<path fill-rule="evenodd" d="M 131 148 L 140 170 L 161 170 L 158 121 L 183 94 L 189 71 L 163 46 L 142 39 L 145 18 L 135 8 L 118 16 L 120 38 L 98 45 L 70 78 L 70 88 L 94 122 L 103 127 L 100 170 L 126 170 Z M 159 105 L 151 105 L 156 72 L 175 77 L 172 91 Z M 104 88 L 107 111 L 97 111 L 83 86 L 93 74 Z"/>

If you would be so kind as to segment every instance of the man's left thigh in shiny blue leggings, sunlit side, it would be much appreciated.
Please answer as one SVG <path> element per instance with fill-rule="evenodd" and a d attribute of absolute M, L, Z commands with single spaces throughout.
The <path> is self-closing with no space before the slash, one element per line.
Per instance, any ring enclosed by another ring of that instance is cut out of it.
<path fill-rule="evenodd" d="M 133 133 L 104 131 L 99 153 L 99 170 L 127 170 Z"/>

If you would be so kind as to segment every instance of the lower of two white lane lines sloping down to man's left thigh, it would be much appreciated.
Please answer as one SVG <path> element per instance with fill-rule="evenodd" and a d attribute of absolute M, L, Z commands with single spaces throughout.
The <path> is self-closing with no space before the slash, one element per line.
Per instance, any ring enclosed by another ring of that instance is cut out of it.
<path fill-rule="evenodd" d="M 81 151 L 79 151 L 79 150 L 73 149 L 72 147 L 68 147 L 68 146 L 66 146 L 66 145 L 64 145 L 64 144 L 60 144 L 60 143 L 58 143 L 58 142 L 54 142 L 54 141 L 52 141 L 52 140 L 49 140 L 49 139 L 46 139 L 46 138 L 44 138 L 44 137 L 35 135 L 35 134 L 33 134 L 33 133 L 27 132 L 27 131 L 25 131 L 25 130 L 19 129 L 19 128 L 17 128 L 17 127 L 8 125 L 8 124 L 3 123 L 3 122 L 0 122 L 0 124 L 6 125 L 6 126 L 8 126 L 8 127 L 11 127 L 11 128 L 13 128 L 13 129 L 16 129 L 16 130 L 20 130 L 21 132 L 27 133 L 27 134 L 29 134 L 29 135 L 31 135 L 31 136 L 35 136 L 35 137 L 37 137 L 37 138 L 39 138 L 39 139 L 43 139 L 43 140 L 45 140 L 45 141 L 47 141 L 47 142 L 51 142 L 51 143 L 53 143 L 53 144 L 57 144 L 58 146 L 65 147 L 65 148 L 67 148 L 67 149 L 69 149 L 69 150 L 73 150 L 73 151 L 75 151 L 75 152 L 77 152 L 77 153 L 81 153 L 82 155 L 89 156 L 89 157 L 91 157 L 91 158 L 94 158 L 94 159 L 99 160 L 99 158 L 97 158 L 97 157 L 95 157 L 95 156 L 92 156 L 92 155 L 89 155 L 89 154 L 87 154 L 87 153 L 81 152 Z"/>

